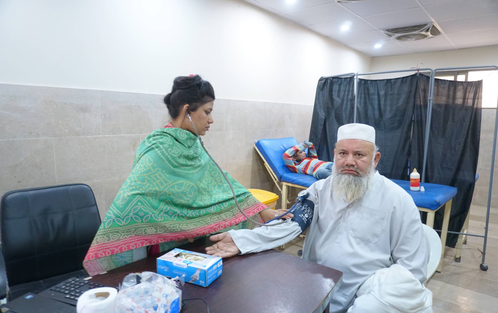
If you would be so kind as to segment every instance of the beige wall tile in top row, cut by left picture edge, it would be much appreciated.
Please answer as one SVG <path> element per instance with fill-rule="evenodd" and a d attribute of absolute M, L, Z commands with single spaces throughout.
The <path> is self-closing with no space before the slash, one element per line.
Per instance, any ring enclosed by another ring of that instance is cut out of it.
<path fill-rule="evenodd" d="M 100 135 L 99 91 L 0 84 L 0 139 Z"/>

